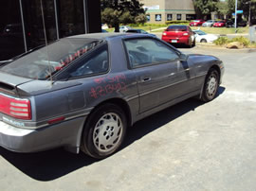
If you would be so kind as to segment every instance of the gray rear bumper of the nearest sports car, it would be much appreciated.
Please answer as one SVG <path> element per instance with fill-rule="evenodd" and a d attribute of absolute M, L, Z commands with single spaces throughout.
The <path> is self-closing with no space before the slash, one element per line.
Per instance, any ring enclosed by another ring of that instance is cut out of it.
<path fill-rule="evenodd" d="M 16 128 L 0 121 L 0 146 L 16 152 L 36 152 L 59 147 L 78 152 L 84 120 L 85 117 L 80 117 L 38 130 Z"/>

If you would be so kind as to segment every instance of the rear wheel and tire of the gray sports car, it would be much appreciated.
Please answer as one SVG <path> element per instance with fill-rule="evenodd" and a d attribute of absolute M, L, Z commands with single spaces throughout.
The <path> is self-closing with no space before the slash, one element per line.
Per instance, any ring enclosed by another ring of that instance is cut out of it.
<path fill-rule="evenodd" d="M 106 158 L 119 149 L 126 129 L 126 116 L 119 106 L 104 104 L 90 114 L 85 124 L 82 151 L 93 158 Z"/>

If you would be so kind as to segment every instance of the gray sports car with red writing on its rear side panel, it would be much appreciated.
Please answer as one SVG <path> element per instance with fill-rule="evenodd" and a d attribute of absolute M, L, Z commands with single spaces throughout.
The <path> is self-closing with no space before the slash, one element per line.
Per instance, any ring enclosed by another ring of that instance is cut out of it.
<path fill-rule="evenodd" d="M 150 35 L 68 37 L 0 68 L 0 145 L 64 147 L 95 158 L 117 151 L 128 127 L 192 96 L 216 96 L 212 56 L 185 55 Z"/>

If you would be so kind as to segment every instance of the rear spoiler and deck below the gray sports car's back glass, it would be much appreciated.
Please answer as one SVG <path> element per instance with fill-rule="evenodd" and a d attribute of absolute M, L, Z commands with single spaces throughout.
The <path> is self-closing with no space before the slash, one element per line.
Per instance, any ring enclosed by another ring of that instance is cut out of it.
<path fill-rule="evenodd" d="M 0 93 L 3 92 L 16 96 L 36 96 L 80 84 L 77 81 L 49 81 L 22 78 L 0 72 Z"/>

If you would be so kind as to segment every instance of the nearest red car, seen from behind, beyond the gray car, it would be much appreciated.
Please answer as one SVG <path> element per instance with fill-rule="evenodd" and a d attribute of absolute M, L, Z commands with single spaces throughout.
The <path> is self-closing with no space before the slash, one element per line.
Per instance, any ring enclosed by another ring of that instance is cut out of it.
<path fill-rule="evenodd" d="M 194 33 L 190 26 L 168 26 L 162 33 L 162 40 L 167 43 L 195 45 Z"/>

